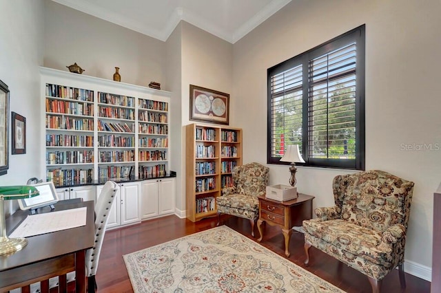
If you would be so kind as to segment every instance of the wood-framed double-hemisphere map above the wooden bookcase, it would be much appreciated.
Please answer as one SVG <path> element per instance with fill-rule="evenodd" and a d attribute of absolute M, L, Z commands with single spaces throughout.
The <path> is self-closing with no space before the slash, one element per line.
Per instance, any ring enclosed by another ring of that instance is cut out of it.
<path fill-rule="evenodd" d="M 229 124 L 229 94 L 190 85 L 190 120 Z"/>

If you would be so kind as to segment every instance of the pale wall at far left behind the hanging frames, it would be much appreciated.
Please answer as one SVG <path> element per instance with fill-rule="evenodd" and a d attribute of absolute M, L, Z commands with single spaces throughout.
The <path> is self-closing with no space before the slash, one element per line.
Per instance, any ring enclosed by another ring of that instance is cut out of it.
<path fill-rule="evenodd" d="M 0 80 L 10 90 L 10 112 L 26 118 L 26 153 L 12 155 L 9 150 L 8 174 L 0 176 L 0 186 L 26 184 L 39 175 L 37 158 L 42 139 L 39 121 L 39 65 L 43 63 L 43 1 L 0 0 Z M 10 125 L 10 117 L 8 120 Z M 10 129 L 10 126 L 9 126 Z M 11 139 L 11 134 L 9 138 Z M 9 142 L 9 147 L 11 142 Z M 9 214 L 17 201 L 7 201 Z"/>

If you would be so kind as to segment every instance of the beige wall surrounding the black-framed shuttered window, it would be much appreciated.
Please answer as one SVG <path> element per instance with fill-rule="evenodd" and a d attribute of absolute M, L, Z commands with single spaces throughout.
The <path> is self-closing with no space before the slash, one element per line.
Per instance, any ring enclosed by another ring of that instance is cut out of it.
<path fill-rule="evenodd" d="M 440 1 L 292 1 L 234 44 L 236 126 L 244 162 L 266 162 L 267 68 L 366 23 L 366 168 L 415 182 L 405 268 L 430 279 L 433 192 L 441 149 L 403 151 L 402 144 L 441 147 Z M 261 129 L 262 131 L 255 131 Z M 287 166 L 269 165 L 271 184 L 288 184 Z M 333 204 L 331 180 L 347 170 L 298 168 L 301 192 L 315 206 Z"/>

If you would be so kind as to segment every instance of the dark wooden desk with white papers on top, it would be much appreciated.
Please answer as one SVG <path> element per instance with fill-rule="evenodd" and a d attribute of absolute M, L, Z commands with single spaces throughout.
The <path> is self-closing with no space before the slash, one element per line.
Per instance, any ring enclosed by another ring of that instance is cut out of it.
<path fill-rule="evenodd" d="M 28 245 L 22 250 L 0 256 L 0 292 L 40 281 L 41 292 L 48 292 L 48 279 L 73 271 L 76 272 L 76 292 L 85 292 L 85 251 L 94 245 L 94 202 L 60 201 L 55 204 L 55 210 L 83 206 L 88 208 L 85 226 L 28 237 Z M 28 211 L 18 210 L 6 219 L 7 234 L 27 215 Z M 65 278 L 60 281 L 65 283 Z M 64 286 L 61 284 L 61 288 Z"/>

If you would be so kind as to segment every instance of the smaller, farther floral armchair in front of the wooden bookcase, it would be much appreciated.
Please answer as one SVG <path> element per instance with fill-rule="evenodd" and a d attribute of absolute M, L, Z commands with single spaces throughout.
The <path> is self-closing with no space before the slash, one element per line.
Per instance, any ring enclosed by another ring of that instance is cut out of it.
<path fill-rule="evenodd" d="M 219 215 L 225 213 L 249 219 L 251 235 L 254 237 L 254 224 L 259 216 L 259 195 L 265 195 L 268 185 L 269 169 L 259 163 L 236 166 L 233 169 L 233 187 L 222 190 L 222 196 L 216 197 Z"/>

